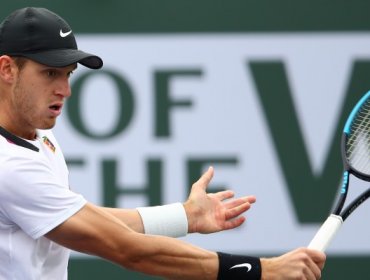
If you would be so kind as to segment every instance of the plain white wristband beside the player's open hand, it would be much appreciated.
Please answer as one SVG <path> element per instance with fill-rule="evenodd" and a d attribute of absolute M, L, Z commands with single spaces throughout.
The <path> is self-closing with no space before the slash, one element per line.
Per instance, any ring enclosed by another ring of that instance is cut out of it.
<path fill-rule="evenodd" d="M 188 218 L 181 203 L 139 207 L 146 234 L 181 237 L 188 233 Z"/>

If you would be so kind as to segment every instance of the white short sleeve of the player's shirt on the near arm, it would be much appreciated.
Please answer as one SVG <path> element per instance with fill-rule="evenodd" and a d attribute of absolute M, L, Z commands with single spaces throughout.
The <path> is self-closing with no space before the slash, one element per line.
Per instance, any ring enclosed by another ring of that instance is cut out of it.
<path fill-rule="evenodd" d="M 13 158 L 0 169 L 0 215 L 34 239 L 48 233 L 86 204 L 57 180 L 43 162 Z"/>

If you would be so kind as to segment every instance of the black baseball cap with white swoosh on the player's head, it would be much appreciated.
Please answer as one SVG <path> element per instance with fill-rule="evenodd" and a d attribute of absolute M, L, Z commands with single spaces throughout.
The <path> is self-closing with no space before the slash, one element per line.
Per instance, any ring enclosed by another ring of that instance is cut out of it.
<path fill-rule="evenodd" d="M 52 67 L 77 62 L 92 69 L 103 66 L 100 57 L 79 50 L 68 23 L 45 8 L 19 9 L 4 19 L 0 55 L 26 57 Z"/>

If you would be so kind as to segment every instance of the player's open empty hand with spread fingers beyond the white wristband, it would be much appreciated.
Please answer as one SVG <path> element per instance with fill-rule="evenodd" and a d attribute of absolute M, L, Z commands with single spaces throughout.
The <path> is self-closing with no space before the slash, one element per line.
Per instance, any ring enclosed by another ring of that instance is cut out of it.
<path fill-rule="evenodd" d="M 207 194 L 206 189 L 213 173 L 213 167 L 210 167 L 193 184 L 189 198 L 184 203 L 189 233 L 212 233 L 236 228 L 246 219 L 240 215 L 256 201 L 254 196 L 231 199 L 234 193 L 230 190 Z"/>

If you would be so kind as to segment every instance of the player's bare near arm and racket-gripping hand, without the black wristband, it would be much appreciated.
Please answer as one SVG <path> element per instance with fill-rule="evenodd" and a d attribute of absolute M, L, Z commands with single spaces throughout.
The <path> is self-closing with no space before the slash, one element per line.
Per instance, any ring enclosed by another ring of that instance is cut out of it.
<path fill-rule="evenodd" d="M 93 204 L 87 204 L 46 237 L 72 250 L 166 279 L 217 279 L 219 262 L 215 252 L 174 238 L 137 233 Z M 297 249 L 261 259 L 262 279 L 320 279 L 324 263 L 323 253 Z"/>

